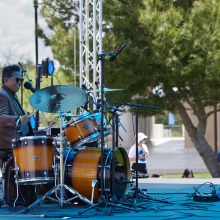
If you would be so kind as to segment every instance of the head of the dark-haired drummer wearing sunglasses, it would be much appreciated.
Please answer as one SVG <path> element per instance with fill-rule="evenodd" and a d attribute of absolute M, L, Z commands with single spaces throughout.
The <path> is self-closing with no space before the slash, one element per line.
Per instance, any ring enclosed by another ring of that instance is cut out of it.
<path fill-rule="evenodd" d="M 7 86 L 12 92 L 16 93 L 23 82 L 19 66 L 6 66 L 2 70 L 2 84 Z"/>

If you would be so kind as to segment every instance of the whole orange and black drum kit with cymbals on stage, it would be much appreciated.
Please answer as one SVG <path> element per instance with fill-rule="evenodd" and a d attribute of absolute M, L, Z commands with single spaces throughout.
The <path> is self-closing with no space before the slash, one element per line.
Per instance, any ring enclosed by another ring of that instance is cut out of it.
<path fill-rule="evenodd" d="M 68 112 L 83 106 L 87 99 L 84 90 L 70 85 L 50 86 L 32 94 L 32 107 L 38 111 L 57 114 L 60 132 L 58 136 L 36 135 L 12 140 L 12 170 L 17 192 L 14 206 L 19 197 L 19 187 L 25 186 L 34 186 L 36 190 L 41 185 L 52 185 L 28 209 L 46 198 L 61 206 L 75 199 L 92 205 L 99 199 L 101 184 L 104 184 L 107 197 L 112 191 L 117 197 L 124 196 L 127 192 L 130 167 L 126 151 L 121 147 L 112 150 L 105 146 L 102 152 L 99 144 L 96 145 L 98 147 L 93 146 L 93 143 L 99 143 L 102 134 L 104 137 L 110 134 L 108 120 L 103 116 L 103 132 L 99 110 L 87 111 L 77 117 L 74 115 L 73 120 L 65 122 L 67 116 L 72 116 Z M 101 158 L 104 161 L 102 169 Z M 104 179 L 101 179 L 101 170 L 104 172 Z"/>

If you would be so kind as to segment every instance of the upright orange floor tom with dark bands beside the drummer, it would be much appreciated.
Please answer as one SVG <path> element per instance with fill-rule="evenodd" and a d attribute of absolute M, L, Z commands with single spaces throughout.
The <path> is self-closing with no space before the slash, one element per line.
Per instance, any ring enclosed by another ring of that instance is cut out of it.
<path fill-rule="evenodd" d="M 53 136 L 28 136 L 12 140 L 18 184 L 34 185 L 54 182 L 53 145 Z"/>

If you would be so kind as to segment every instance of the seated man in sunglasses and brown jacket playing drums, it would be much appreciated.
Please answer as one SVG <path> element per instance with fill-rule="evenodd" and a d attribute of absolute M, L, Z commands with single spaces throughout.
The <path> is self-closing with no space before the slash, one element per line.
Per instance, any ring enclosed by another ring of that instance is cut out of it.
<path fill-rule="evenodd" d="M 12 152 L 12 140 L 16 137 L 31 136 L 31 115 L 26 115 L 16 93 L 23 82 L 19 66 L 6 66 L 2 70 L 0 88 L 0 151 Z M 2 154 L 1 154 L 2 155 Z"/>

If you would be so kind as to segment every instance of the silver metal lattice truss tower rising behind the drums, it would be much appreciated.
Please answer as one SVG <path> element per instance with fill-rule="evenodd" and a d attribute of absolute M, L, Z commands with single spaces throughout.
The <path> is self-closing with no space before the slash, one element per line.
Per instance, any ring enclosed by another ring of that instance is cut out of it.
<path fill-rule="evenodd" d="M 79 0 L 79 18 L 80 86 L 85 84 L 96 97 L 95 82 L 101 78 L 102 0 Z"/>

